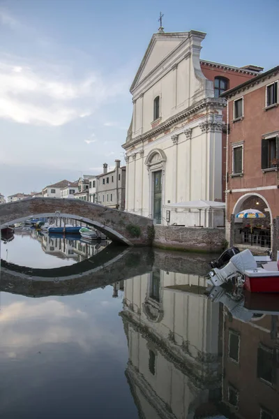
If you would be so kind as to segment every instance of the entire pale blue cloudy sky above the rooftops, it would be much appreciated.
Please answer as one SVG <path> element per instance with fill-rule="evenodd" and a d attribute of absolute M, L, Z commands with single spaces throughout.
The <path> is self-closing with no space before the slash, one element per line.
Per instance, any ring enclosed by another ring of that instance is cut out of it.
<path fill-rule="evenodd" d="M 278 0 L 208 4 L 0 0 L 0 192 L 40 191 L 124 163 L 129 87 L 160 10 L 165 31 L 207 33 L 204 59 L 279 64 Z"/>

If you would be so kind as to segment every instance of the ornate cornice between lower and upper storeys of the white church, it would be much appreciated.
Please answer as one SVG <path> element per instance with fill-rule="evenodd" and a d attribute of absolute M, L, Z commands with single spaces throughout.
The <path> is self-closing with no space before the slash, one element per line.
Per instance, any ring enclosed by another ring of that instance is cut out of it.
<path fill-rule="evenodd" d="M 135 147 L 135 145 L 140 144 L 140 142 L 144 142 L 144 140 L 149 140 L 149 138 L 153 137 L 154 135 L 159 135 L 163 133 L 167 129 L 169 129 L 172 125 L 176 124 L 177 122 L 182 122 L 183 119 L 187 119 L 191 115 L 206 109 L 206 108 L 225 108 L 226 101 L 225 99 L 220 98 L 204 98 L 197 103 L 193 103 L 189 108 L 182 110 L 178 114 L 174 115 L 167 119 L 167 121 L 163 122 L 162 124 L 152 128 L 149 131 L 142 135 L 138 135 L 136 138 L 133 138 L 129 142 L 126 142 L 122 145 L 123 149 L 130 149 Z"/>

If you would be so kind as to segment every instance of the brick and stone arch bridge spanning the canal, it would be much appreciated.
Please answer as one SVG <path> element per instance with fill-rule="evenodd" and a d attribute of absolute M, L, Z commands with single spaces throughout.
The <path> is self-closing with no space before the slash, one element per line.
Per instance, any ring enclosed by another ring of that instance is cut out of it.
<path fill-rule="evenodd" d="M 27 198 L 0 205 L 0 228 L 31 217 L 66 217 L 82 221 L 128 246 L 151 246 L 153 220 L 73 198 Z"/>

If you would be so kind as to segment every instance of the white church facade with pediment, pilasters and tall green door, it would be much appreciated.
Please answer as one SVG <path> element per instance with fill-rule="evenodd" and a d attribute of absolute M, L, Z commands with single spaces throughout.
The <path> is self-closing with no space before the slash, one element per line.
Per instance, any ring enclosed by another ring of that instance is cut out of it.
<path fill-rule="evenodd" d="M 154 34 L 130 92 L 126 211 L 167 224 L 168 204 L 222 200 L 225 101 L 200 65 L 199 31 Z M 195 212 L 195 210 L 194 210 Z M 193 214 L 183 214 L 186 226 Z M 172 217 L 170 223 L 175 220 Z"/>

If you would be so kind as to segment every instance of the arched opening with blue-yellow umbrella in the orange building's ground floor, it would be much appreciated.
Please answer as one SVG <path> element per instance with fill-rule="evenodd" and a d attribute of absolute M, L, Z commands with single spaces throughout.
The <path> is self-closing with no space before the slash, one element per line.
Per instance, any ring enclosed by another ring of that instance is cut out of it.
<path fill-rule="evenodd" d="M 246 193 L 237 200 L 233 214 L 243 210 L 259 210 L 264 213 L 264 219 L 234 220 L 234 243 L 247 246 L 271 248 L 272 214 L 269 203 L 259 193 Z"/>

